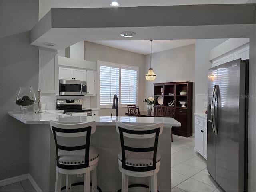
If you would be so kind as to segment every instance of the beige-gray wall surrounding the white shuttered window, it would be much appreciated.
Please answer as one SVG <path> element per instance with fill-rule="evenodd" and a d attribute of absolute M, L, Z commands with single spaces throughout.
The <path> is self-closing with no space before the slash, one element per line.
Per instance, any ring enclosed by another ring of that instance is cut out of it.
<path fill-rule="evenodd" d="M 97 60 L 137 66 L 139 68 L 138 79 L 138 105 L 142 108 L 144 100 L 144 63 L 145 56 L 134 52 L 124 51 L 109 46 L 95 44 L 92 42 L 84 42 L 84 59 L 88 61 L 97 62 Z M 91 96 L 90 105 L 96 107 L 97 96 Z M 140 102 L 141 101 L 141 102 Z M 111 112 L 115 114 L 115 110 L 112 108 L 100 109 L 101 116 L 110 116 Z M 118 108 L 119 116 L 124 115 L 127 112 L 127 108 Z"/>

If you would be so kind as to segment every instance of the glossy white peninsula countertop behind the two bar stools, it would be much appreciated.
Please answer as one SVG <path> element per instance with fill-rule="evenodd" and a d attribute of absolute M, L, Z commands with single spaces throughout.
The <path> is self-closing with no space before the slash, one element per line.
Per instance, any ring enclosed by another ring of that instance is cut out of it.
<path fill-rule="evenodd" d="M 180 122 L 170 117 L 130 117 L 130 116 L 70 116 L 62 110 L 45 110 L 41 114 L 36 112 L 8 112 L 8 115 L 25 124 L 49 124 L 50 120 L 58 122 L 87 122 L 96 121 L 98 126 L 115 126 L 116 120 L 127 123 L 149 124 L 163 122 L 164 127 L 181 126 Z"/>

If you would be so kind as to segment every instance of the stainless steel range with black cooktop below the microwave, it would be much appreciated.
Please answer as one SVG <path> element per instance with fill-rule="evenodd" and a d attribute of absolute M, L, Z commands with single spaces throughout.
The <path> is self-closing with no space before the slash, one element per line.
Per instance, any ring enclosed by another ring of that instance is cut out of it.
<path fill-rule="evenodd" d="M 82 108 L 81 99 L 57 99 L 56 109 L 64 110 L 64 114 L 72 116 L 92 116 L 91 109 Z"/>

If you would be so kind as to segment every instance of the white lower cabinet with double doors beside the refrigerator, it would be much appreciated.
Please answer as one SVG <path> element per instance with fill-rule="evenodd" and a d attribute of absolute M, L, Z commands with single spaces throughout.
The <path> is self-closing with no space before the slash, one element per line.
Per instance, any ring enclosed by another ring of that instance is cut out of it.
<path fill-rule="evenodd" d="M 195 115 L 195 149 L 207 159 L 207 118 Z"/>

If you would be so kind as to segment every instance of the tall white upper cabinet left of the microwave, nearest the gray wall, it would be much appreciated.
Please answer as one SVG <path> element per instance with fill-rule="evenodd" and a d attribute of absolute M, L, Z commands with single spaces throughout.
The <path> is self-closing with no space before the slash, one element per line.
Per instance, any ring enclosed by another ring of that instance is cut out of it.
<path fill-rule="evenodd" d="M 56 50 L 39 48 L 38 88 L 43 94 L 58 92 L 58 56 Z"/>

